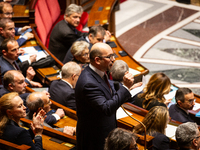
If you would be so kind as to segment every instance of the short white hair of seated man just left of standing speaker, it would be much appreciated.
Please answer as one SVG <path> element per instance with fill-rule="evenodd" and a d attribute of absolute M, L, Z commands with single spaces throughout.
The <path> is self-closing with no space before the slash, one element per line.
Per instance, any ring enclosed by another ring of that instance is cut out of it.
<path fill-rule="evenodd" d="M 73 74 L 79 74 L 81 72 L 81 67 L 75 62 L 68 62 L 62 66 L 62 78 L 69 78 Z"/>

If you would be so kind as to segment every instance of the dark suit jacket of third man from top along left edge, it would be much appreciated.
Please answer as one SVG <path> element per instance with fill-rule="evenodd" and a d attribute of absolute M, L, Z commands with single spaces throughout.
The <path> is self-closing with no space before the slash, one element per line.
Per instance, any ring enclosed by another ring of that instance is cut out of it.
<path fill-rule="evenodd" d="M 20 62 L 19 60 L 16 61 L 16 64 L 22 71 L 22 74 L 26 76 L 26 70 L 29 67 L 28 61 Z M 0 66 L 1 66 L 1 79 L 3 81 L 3 76 L 8 70 L 16 70 L 3 56 L 0 57 Z"/>

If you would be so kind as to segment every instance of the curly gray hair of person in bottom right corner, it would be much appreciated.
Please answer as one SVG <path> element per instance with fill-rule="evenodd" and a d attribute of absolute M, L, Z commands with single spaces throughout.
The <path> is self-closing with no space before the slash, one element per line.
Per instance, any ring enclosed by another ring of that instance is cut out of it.
<path fill-rule="evenodd" d="M 179 125 L 176 129 L 176 141 L 179 147 L 191 146 L 192 140 L 199 134 L 196 123 L 187 122 Z"/>

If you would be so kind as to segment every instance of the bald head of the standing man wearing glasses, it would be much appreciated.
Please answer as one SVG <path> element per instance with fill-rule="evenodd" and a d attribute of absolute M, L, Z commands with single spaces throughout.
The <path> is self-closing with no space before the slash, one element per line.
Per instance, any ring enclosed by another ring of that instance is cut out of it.
<path fill-rule="evenodd" d="M 115 61 L 112 48 L 105 43 L 96 43 L 90 51 L 90 62 L 101 71 L 109 71 Z"/>

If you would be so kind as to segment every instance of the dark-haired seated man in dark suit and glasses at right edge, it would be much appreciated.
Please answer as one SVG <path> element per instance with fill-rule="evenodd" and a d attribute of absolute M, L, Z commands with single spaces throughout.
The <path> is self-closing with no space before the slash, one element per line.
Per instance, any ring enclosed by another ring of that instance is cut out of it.
<path fill-rule="evenodd" d="M 169 115 L 173 120 L 179 122 L 194 122 L 188 110 L 195 105 L 194 94 L 189 88 L 179 88 L 175 95 L 176 104 L 169 107 Z"/>

